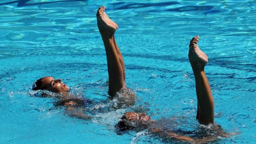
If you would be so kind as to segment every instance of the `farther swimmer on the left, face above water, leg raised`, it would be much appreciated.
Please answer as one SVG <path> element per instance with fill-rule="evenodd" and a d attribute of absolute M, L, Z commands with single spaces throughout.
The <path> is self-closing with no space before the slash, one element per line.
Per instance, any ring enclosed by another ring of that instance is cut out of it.
<path fill-rule="evenodd" d="M 105 7 L 100 7 L 96 16 L 97 25 L 107 55 L 108 93 L 110 98 L 116 98 L 118 100 L 117 107 L 133 105 L 136 96 L 126 87 L 124 60 L 114 36 L 118 25 L 107 16 Z M 70 88 L 61 79 L 55 79 L 53 77 L 40 78 L 34 82 L 32 90 L 47 90 L 61 95 L 61 100 L 57 105 L 81 106 L 84 104 L 84 98 L 76 98 L 68 93 Z M 47 97 L 47 95 L 42 96 Z"/>

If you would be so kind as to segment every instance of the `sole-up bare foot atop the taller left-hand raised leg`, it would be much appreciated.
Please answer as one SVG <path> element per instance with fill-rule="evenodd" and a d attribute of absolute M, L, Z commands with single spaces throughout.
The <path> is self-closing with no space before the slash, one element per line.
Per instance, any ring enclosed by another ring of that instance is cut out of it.
<path fill-rule="evenodd" d="M 105 12 L 106 7 L 99 7 L 97 11 L 97 25 L 100 33 L 107 32 L 110 35 L 113 35 L 118 28 L 118 25 L 111 21 Z"/>

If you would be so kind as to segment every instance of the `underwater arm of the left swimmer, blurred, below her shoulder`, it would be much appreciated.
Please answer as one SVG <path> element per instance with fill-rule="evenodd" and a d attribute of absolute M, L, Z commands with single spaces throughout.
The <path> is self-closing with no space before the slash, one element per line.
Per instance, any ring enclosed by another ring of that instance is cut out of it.
<path fill-rule="evenodd" d="M 90 115 L 84 114 L 84 112 L 78 107 L 67 107 L 65 113 L 70 117 L 75 117 L 83 120 L 90 120 L 93 118 Z"/>

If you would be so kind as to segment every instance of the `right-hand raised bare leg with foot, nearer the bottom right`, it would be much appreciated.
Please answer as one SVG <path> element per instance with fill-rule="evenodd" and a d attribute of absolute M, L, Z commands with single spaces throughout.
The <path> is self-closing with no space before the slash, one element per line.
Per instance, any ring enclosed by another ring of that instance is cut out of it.
<path fill-rule="evenodd" d="M 193 37 L 189 46 L 189 59 L 194 72 L 196 82 L 196 95 L 198 99 L 197 119 L 199 123 L 214 123 L 214 100 L 211 94 L 211 87 L 206 78 L 204 67 L 208 63 L 208 58 L 203 53 L 197 43 L 199 36 Z"/>

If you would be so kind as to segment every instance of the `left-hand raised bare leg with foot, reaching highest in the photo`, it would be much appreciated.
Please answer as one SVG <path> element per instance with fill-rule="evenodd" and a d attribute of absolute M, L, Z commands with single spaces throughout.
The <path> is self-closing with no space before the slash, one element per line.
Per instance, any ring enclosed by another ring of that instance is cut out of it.
<path fill-rule="evenodd" d="M 97 25 L 101 34 L 107 55 L 107 70 L 109 79 L 109 95 L 113 96 L 125 86 L 124 69 L 120 63 L 120 50 L 116 48 L 114 33 L 118 26 L 105 13 L 105 7 L 100 7 L 97 14 Z M 118 52 L 117 50 L 118 49 Z M 122 56 L 121 56 L 122 58 Z"/>

